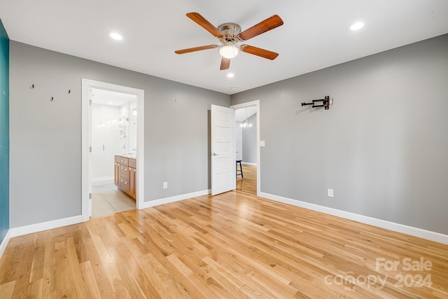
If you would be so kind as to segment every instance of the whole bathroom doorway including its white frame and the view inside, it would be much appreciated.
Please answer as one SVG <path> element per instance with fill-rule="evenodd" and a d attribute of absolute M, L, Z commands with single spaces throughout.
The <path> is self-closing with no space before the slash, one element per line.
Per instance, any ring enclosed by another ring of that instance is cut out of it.
<path fill-rule="evenodd" d="M 83 79 L 83 221 L 142 207 L 143 106 L 144 90 Z"/>

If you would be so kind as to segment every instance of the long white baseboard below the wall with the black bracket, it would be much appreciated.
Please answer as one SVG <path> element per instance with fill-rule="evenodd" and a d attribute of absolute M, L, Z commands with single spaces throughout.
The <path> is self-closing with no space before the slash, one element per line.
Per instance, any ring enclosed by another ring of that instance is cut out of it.
<path fill-rule="evenodd" d="M 260 197 L 265 197 L 269 200 L 275 200 L 276 202 L 283 202 L 286 204 L 291 204 L 296 207 L 302 207 L 304 209 L 311 209 L 313 211 L 320 211 L 325 214 L 330 214 L 332 216 L 337 216 L 360 223 L 365 223 L 369 225 L 374 225 L 379 228 L 385 228 L 386 230 L 393 230 L 394 232 L 401 232 L 406 235 L 412 235 L 414 237 L 420 237 L 422 239 L 428 239 L 430 241 L 447 244 L 448 245 L 448 235 L 443 235 L 440 232 L 431 232 L 430 230 L 423 230 L 421 228 L 414 228 L 412 226 L 403 225 L 400 223 L 393 223 L 390 221 L 381 220 L 378 218 L 372 218 L 369 216 L 363 216 L 360 214 L 354 214 L 349 211 L 342 211 L 339 209 L 333 209 L 329 207 L 319 206 L 318 204 L 311 204 L 309 202 L 302 202 L 300 200 L 293 200 L 287 197 L 281 197 L 277 195 L 272 195 L 269 193 L 260 193 Z"/>

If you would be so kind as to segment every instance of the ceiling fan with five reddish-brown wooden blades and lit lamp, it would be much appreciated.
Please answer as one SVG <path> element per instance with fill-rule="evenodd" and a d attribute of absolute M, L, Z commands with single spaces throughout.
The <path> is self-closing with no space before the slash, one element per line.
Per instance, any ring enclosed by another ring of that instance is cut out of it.
<path fill-rule="evenodd" d="M 241 32 L 241 27 L 235 23 L 224 23 L 218 27 L 214 27 L 214 25 L 212 25 L 199 13 L 187 13 L 187 17 L 216 36 L 219 41 L 221 41 L 221 46 L 209 45 L 174 51 L 177 54 L 218 48 L 219 53 L 222 56 L 220 67 L 221 70 L 228 69 L 230 67 L 230 60 L 237 56 L 239 51 L 267 58 L 268 60 L 274 60 L 277 56 L 279 56 L 278 53 L 265 49 L 248 45 L 237 45 L 240 41 L 247 41 L 248 39 L 252 39 L 255 36 L 283 25 L 283 20 L 281 20 L 278 15 L 272 15 L 272 17 L 269 17 L 266 20 L 259 22 L 257 25 L 244 30 L 244 32 Z"/>

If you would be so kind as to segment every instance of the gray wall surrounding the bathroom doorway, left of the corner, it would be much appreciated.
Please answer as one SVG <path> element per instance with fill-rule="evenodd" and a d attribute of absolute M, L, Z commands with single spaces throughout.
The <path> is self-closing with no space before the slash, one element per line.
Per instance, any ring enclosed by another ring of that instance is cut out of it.
<path fill-rule="evenodd" d="M 81 214 L 81 78 L 145 90 L 145 201 L 210 188 L 208 111 L 229 95 L 11 41 L 11 228 Z"/>

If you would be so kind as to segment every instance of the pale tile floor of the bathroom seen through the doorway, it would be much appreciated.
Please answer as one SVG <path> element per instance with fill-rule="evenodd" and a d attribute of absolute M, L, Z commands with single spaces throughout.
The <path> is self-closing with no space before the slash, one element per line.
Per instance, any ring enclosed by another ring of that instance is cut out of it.
<path fill-rule="evenodd" d="M 113 183 L 92 186 L 92 218 L 135 209 L 135 201 Z"/>

